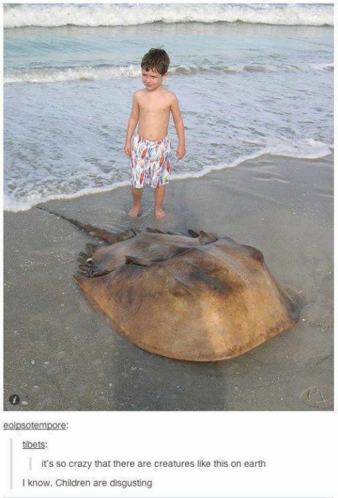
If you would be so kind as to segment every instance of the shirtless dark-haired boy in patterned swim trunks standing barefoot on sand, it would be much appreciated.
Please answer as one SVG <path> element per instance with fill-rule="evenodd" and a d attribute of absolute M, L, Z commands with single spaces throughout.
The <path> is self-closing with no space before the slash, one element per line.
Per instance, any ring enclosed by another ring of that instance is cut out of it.
<path fill-rule="evenodd" d="M 133 108 L 124 144 L 124 152 L 131 160 L 133 208 L 129 216 L 140 216 L 142 189 L 144 183 L 149 183 L 155 191 L 155 217 L 165 217 L 162 203 L 170 172 L 170 113 L 178 136 L 176 158 L 185 156 L 185 129 L 178 100 L 173 92 L 162 86 L 168 75 L 169 62 L 167 52 L 161 48 L 151 48 L 141 62 L 145 88 L 135 91 L 133 95 Z M 137 124 L 138 134 L 132 139 Z"/>

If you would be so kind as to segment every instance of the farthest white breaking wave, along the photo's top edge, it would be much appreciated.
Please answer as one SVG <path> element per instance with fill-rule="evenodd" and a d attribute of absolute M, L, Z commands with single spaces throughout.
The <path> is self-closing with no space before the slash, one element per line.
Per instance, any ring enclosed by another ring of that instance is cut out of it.
<path fill-rule="evenodd" d="M 243 22 L 333 26 L 333 5 L 311 4 L 7 4 L 4 28 L 24 26 L 133 26 L 154 22 Z"/>

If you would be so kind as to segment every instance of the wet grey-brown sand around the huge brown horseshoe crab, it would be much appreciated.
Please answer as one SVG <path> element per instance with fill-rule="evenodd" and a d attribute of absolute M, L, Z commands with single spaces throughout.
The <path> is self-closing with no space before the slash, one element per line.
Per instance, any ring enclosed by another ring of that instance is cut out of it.
<path fill-rule="evenodd" d="M 5 212 L 6 410 L 327 410 L 333 384 L 333 158 L 261 156 L 171 181 L 165 221 L 128 187 Z M 44 208 L 41 210 L 40 208 Z M 290 331 L 232 360 L 182 362 L 113 330 L 72 275 L 92 237 L 53 213 L 113 231 L 189 228 L 259 248 L 301 313 Z M 8 398 L 18 394 L 12 406 Z"/>

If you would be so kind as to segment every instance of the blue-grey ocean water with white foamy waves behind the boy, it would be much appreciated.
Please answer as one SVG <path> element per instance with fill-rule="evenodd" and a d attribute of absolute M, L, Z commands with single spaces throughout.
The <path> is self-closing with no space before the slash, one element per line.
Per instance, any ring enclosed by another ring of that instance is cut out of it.
<path fill-rule="evenodd" d="M 6 210 L 129 184 L 126 124 L 152 46 L 169 53 L 185 122 L 172 178 L 333 148 L 332 5 L 8 4 L 4 26 Z M 169 136 L 175 151 L 172 121 Z"/>

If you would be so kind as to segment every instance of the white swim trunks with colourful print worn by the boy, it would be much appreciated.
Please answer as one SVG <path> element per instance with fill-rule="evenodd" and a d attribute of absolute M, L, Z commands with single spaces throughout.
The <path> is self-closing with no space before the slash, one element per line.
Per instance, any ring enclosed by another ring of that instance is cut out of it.
<path fill-rule="evenodd" d="M 171 141 L 146 140 L 135 135 L 131 142 L 131 185 L 142 188 L 149 183 L 153 188 L 169 182 Z"/>

